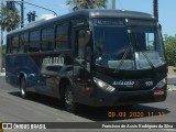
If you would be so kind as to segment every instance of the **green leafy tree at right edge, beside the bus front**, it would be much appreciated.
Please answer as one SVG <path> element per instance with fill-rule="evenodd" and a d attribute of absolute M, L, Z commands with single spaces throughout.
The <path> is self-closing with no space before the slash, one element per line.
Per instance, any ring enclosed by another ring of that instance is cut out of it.
<path fill-rule="evenodd" d="M 169 66 L 176 66 L 176 37 L 164 36 L 167 63 Z"/>

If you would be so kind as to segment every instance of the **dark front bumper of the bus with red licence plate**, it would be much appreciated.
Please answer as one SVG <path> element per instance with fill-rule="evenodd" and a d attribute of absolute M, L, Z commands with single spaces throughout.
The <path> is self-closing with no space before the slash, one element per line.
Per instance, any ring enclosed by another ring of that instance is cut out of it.
<path fill-rule="evenodd" d="M 114 91 L 96 95 L 90 98 L 92 107 L 128 106 L 164 101 L 167 97 L 166 86 L 162 89 L 143 91 Z"/>

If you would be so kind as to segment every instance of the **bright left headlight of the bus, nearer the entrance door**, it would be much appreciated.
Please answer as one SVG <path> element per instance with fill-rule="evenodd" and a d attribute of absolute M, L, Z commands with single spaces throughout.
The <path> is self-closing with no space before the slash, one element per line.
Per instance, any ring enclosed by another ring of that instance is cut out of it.
<path fill-rule="evenodd" d="M 113 88 L 112 86 L 108 85 L 107 82 L 94 77 L 94 81 L 102 89 L 107 90 L 107 91 L 114 91 L 116 88 Z"/>

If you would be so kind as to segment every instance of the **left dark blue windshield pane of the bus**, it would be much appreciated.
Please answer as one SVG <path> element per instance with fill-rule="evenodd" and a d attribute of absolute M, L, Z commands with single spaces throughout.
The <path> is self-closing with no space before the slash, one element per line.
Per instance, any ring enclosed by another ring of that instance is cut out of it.
<path fill-rule="evenodd" d="M 128 46 L 127 26 L 95 26 L 96 56 L 121 59 Z"/>

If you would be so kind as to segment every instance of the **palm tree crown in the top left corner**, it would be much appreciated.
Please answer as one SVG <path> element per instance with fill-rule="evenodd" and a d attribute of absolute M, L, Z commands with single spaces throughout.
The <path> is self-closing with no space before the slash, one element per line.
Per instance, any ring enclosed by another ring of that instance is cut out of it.
<path fill-rule="evenodd" d="M 19 26 L 20 15 L 18 9 L 10 10 L 7 6 L 1 7 L 0 25 L 2 30 L 11 31 Z"/>

